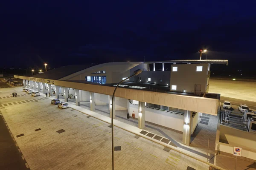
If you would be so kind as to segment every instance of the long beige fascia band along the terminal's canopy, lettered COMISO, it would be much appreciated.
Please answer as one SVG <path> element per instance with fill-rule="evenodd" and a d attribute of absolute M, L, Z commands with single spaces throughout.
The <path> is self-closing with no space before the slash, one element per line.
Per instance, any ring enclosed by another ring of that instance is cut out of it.
<path fill-rule="evenodd" d="M 114 91 L 114 87 L 103 85 L 84 84 L 78 82 L 67 82 L 52 79 L 39 79 L 35 77 L 25 77 L 17 75 L 14 75 L 14 77 L 18 79 L 43 82 L 61 87 L 74 88 L 105 95 L 112 95 Z M 218 99 L 204 98 L 198 96 L 183 96 L 178 94 L 166 94 L 130 88 L 117 88 L 116 96 L 125 99 L 137 100 L 140 102 L 148 102 L 156 105 L 163 105 L 188 111 L 206 113 L 215 116 L 217 115 L 219 104 Z"/>

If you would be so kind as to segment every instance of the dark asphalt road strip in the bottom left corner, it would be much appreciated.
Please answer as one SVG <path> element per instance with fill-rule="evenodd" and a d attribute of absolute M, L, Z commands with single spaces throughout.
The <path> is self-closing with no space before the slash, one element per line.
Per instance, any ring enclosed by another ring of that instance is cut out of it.
<path fill-rule="evenodd" d="M 0 170 L 28 170 L 0 112 Z"/>

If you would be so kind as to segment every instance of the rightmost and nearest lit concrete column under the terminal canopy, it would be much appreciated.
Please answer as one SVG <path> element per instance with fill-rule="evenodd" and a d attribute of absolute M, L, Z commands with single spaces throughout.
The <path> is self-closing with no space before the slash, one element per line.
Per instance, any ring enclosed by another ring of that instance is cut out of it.
<path fill-rule="evenodd" d="M 189 146 L 189 144 L 190 144 L 191 120 L 192 120 L 192 113 L 191 113 L 191 111 L 185 111 L 184 112 L 182 143 L 186 144 L 187 146 Z"/>

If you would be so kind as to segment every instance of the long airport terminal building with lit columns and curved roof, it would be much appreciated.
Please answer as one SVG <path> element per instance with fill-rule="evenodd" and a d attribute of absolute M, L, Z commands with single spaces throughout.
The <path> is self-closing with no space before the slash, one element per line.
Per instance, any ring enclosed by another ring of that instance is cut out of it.
<path fill-rule="evenodd" d="M 99 65 L 68 65 L 34 75 L 15 76 L 26 87 L 50 93 L 77 106 L 87 104 L 111 112 L 113 90 L 123 79 L 140 69 L 117 88 L 113 118 L 129 116 L 143 129 L 145 122 L 190 136 L 202 113 L 217 115 L 219 95 L 208 95 L 211 64 L 227 60 L 169 60 L 161 62 L 109 62 Z M 160 68 L 160 69 L 159 69 Z M 209 97 L 207 97 L 209 96 Z M 109 114 L 111 116 L 111 114 Z M 127 118 L 126 118 L 127 119 Z"/>

